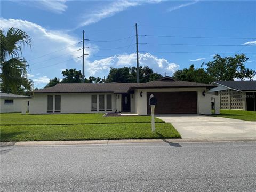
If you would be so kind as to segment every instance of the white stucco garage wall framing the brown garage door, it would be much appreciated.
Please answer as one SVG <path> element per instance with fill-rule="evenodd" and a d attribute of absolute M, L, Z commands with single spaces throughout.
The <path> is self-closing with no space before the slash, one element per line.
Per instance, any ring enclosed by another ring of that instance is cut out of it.
<path fill-rule="evenodd" d="M 205 96 L 202 92 L 206 91 Z M 142 97 L 140 92 L 142 91 Z M 173 92 L 173 91 L 196 91 L 197 92 L 197 113 L 211 114 L 211 94 L 207 94 L 207 90 L 203 88 L 178 88 L 178 89 L 137 89 L 134 93 L 135 98 L 135 113 L 138 115 L 147 115 L 147 92 Z M 217 96 L 218 97 L 218 96 Z M 217 99 L 219 100 L 219 99 Z"/>

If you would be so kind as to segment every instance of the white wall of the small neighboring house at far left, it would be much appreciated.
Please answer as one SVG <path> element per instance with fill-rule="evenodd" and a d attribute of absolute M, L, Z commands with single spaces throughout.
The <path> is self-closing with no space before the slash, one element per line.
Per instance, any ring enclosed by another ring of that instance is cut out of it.
<path fill-rule="evenodd" d="M 12 99 L 13 103 L 5 104 L 5 99 Z M 25 98 L 1 98 L 0 102 L 0 111 L 1 113 L 13 113 L 13 112 L 21 112 L 27 111 L 27 102 L 29 99 Z"/>

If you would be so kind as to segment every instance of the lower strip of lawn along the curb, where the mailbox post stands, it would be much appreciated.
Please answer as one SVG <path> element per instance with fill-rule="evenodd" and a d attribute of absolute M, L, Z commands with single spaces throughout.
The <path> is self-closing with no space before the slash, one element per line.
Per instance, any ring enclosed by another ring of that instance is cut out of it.
<path fill-rule="evenodd" d="M 12 125 L 1 126 L 1 141 L 59 141 L 96 139 L 181 138 L 169 123 L 116 123 L 84 125 Z"/>

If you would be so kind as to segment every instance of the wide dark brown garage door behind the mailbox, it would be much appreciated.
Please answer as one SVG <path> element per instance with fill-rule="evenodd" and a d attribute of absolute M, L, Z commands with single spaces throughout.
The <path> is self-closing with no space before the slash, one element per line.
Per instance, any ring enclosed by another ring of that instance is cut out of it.
<path fill-rule="evenodd" d="M 147 92 L 147 113 L 151 114 L 149 106 L 150 94 L 157 99 L 155 114 L 196 114 L 196 91 L 182 92 Z"/>

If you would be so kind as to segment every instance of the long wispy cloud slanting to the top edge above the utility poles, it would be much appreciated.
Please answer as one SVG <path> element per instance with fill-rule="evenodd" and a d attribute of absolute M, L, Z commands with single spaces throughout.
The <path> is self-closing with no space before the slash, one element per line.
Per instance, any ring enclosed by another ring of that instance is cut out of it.
<path fill-rule="evenodd" d="M 94 10 L 91 13 L 86 13 L 83 15 L 84 22 L 80 23 L 77 28 L 90 25 L 104 18 L 111 17 L 116 13 L 122 12 L 130 7 L 135 7 L 142 5 L 144 3 L 159 3 L 161 0 L 151 0 L 151 1 L 113 1 L 109 3 L 107 6 Z M 102 5 L 101 5 L 102 6 Z"/>

